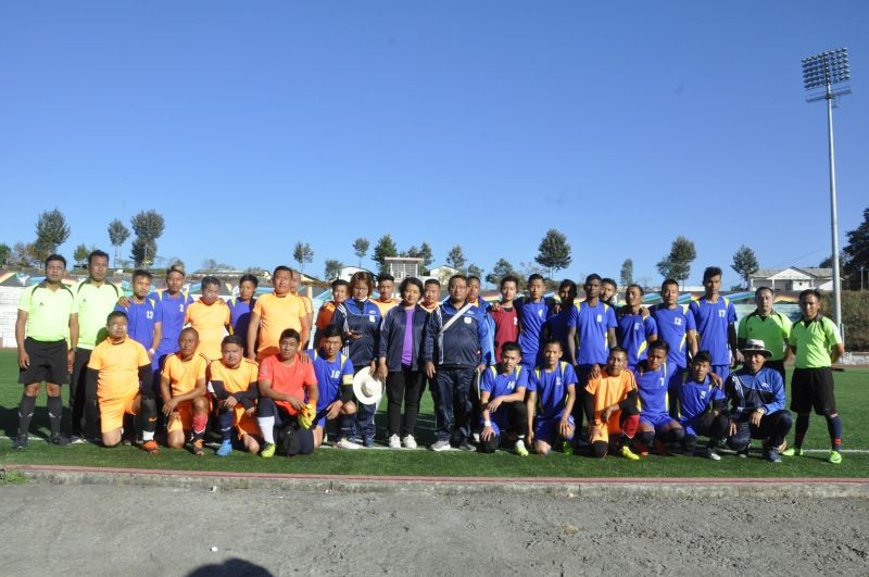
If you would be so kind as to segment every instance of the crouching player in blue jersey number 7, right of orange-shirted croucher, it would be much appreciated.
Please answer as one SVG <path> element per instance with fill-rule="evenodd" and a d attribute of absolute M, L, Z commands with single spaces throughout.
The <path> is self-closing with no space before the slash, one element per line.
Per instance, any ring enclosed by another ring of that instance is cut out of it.
<path fill-rule="evenodd" d="M 681 442 L 684 429 L 672 418 L 667 407 L 667 353 L 669 347 L 663 340 L 648 346 L 648 355 L 634 372 L 637 390 L 640 394 L 640 427 L 638 428 L 638 447 L 640 454 L 648 452 L 654 441 L 662 455 L 669 454 L 667 443 Z"/>

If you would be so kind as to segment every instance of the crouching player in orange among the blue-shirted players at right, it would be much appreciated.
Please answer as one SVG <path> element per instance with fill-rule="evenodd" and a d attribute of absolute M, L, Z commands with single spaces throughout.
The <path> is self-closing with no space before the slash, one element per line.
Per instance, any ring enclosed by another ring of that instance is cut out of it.
<path fill-rule="evenodd" d="M 621 455 L 640 459 L 628 443 L 637 434 L 640 410 L 637 406 L 637 382 L 633 373 L 626 368 L 628 353 L 613 347 L 606 369 L 589 379 L 585 386 L 584 409 L 589 422 L 589 436 L 594 455 L 603 459 L 609 452 L 610 436 L 619 436 L 614 447 L 620 446 Z"/>

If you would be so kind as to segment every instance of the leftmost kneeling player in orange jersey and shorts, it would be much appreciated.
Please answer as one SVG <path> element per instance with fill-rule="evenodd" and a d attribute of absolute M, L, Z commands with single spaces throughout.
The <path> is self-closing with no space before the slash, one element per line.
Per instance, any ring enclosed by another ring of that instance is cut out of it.
<path fill-rule="evenodd" d="M 159 452 L 154 441 L 156 403 L 151 392 L 151 360 L 140 343 L 127 337 L 127 314 L 113 311 L 106 319 L 109 338 L 93 349 L 88 362 L 89 390 L 97 390 L 102 443 L 121 442 L 124 415 L 142 416 L 142 449 Z"/>

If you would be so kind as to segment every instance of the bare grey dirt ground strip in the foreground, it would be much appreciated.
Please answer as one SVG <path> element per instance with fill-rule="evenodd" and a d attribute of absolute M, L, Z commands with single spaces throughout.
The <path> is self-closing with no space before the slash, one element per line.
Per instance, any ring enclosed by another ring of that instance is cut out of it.
<path fill-rule="evenodd" d="M 869 575 L 869 500 L 0 487 L 0 574 Z"/>

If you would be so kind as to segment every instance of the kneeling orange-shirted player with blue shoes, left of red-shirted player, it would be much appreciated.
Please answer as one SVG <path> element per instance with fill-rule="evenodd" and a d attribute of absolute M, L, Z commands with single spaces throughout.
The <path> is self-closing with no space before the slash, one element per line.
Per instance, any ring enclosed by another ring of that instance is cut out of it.
<path fill-rule="evenodd" d="M 216 400 L 217 421 L 221 425 L 222 440 L 217 456 L 227 456 L 232 452 L 232 428 L 244 449 L 256 453 L 260 451 L 256 440 L 260 427 L 254 417 L 259 396 L 259 367 L 255 362 L 244 359 L 244 347 L 238 335 L 225 337 L 221 352 L 221 360 L 209 364 L 207 377 L 210 390 Z"/>

